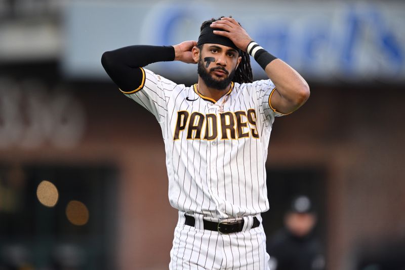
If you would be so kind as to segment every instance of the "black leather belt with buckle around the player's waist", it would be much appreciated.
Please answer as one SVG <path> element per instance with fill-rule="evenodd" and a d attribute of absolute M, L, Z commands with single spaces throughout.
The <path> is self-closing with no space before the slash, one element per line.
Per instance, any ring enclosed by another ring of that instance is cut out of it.
<path fill-rule="evenodd" d="M 184 224 L 188 226 L 195 226 L 195 218 L 189 215 L 184 215 L 186 218 Z M 231 234 L 231 233 L 238 233 L 242 231 L 244 227 L 245 220 L 236 220 L 236 221 L 223 221 L 223 222 L 213 222 L 209 220 L 203 219 L 204 229 L 213 230 L 215 232 L 219 232 L 221 234 Z M 257 217 L 253 217 L 253 225 L 252 228 L 256 228 L 260 225 L 260 221 Z"/>

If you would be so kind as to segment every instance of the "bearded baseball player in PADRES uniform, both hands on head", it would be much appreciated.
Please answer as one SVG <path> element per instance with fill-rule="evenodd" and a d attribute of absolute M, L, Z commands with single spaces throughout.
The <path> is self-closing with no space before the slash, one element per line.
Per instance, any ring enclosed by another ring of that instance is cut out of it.
<path fill-rule="evenodd" d="M 249 55 L 269 80 L 252 81 Z M 305 80 L 230 17 L 204 22 L 197 42 L 129 46 L 101 60 L 163 132 L 169 200 L 179 210 L 170 269 L 268 269 L 260 213 L 269 209 L 270 132 L 275 117 L 307 100 Z M 198 82 L 178 85 L 143 68 L 174 60 L 197 64 Z"/>

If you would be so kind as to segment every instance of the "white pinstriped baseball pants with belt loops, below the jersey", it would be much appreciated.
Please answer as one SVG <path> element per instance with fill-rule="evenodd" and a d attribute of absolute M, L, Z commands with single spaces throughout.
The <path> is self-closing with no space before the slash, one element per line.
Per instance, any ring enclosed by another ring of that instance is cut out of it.
<path fill-rule="evenodd" d="M 248 269 L 269 270 L 266 236 L 262 219 L 251 228 L 253 217 L 245 217 L 242 232 L 220 234 L 204 230 L 201 215 L 193 215 L 195 227 L 184 225 L 184 212 L 174 232 L 169 268 L 178 269 Z"/>

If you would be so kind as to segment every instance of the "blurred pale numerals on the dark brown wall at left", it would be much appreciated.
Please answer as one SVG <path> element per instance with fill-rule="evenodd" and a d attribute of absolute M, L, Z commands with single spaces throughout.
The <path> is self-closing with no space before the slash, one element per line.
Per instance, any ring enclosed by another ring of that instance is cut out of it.
<path fill-rule="evenodd" d="M 82 140 L 85 111 L 67 91 L 50 93 L 36 80 L 0 78 L 0 86 L 0 148 L 69 148 Z"/>

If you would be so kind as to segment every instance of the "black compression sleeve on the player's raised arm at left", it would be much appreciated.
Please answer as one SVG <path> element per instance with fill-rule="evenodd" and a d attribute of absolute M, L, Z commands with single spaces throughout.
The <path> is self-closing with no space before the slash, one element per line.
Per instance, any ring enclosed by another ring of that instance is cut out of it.
<path fill-rule="evenodd" d="M 119 89 L 130 92 L 142 83 L 139 67 L 174 58 L 173 46 L 134 45 L 103 53 L 101 64 Z"/>

